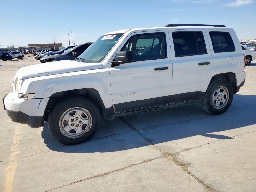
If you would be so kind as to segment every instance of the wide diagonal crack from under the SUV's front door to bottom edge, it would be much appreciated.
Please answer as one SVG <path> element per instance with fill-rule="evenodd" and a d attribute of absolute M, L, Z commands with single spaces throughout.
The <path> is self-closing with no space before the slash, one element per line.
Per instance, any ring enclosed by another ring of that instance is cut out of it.
<path fill-rule="evenodd" d="M 162 154 L 164 154 L 164 156 L 166 156 L 168 159 L 172 160 L 172 162 L 174 162 L 176 165 L 178 165 L 180 168 L 182 168 L 185 172 L 187 172 L 190 176 L 192 176 L 194 179 L 196 179 L 199 183 L 201 183 L 202 185 L 204 185 L 205 188 L 209 189 L 211 192 L 214 192 L 213 189 L 211 189 L 208 185 L 206 185 L 202 180 L 200 180 L 199 178 L 197 178 L 195 175 L 193 175 L 190 171 L 187 170 L 187 167 L 189 166 L 188 164 L 181 164 L 177 159 L 175 159 L 174 157 L 172 157 L 171 154 L 164 152 L 163 150 L 161 150 L 160 148 L 158 148 L 149 138 L 145 137 L 144 135 L 142 135 L 142 133 L 138 132 L 131 124 L 129 124 L 128 122 L 126 122 L 122 117 L 120 117 L 120 119 L 127 124 L 133 131 L 137 132 L 142 138 L 144 138 L 146 141 L 148 141 L 151 145 L 153 145 L 154 147 L 156 147 Z"/>

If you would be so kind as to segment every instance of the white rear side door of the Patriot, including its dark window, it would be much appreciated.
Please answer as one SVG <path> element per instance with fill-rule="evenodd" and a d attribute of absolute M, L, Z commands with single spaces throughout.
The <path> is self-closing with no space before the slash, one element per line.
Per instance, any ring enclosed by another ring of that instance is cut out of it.
<path fill-rule="evenodd" d="M 204 30 L 169 30 L 173 63 L 172 102 L 200 100 L 215 75 Z"/>

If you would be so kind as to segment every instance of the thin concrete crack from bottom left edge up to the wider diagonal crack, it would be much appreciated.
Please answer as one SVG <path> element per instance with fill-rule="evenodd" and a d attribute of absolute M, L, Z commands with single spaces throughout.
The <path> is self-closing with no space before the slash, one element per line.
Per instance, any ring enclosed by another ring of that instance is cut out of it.
<path fill-rule="evenodd" d="M 154 161 L 154 160 L 156 160 L 156 159 L 161 159 L 161 158 L 163 158 L 163 157 L 165 157 L 165 156 L 156 157 L 156 158 L 154 158 L 154 159 L 148 159 L 148 160 L 146 160 L 146 161 L 142 161 L 142 162 L 137 163 L 137 164 L 132 164 L 132 165 L 129 165 L 129 166 L 127 166 L 127 167 L 123 167 L 123 168 L 120 168 L 120 169 L 116 169 L 116 170 L 114 170 L 114 171 L 109 171 L 109 172 L 102 173 L 102 174 L 98 174 L 98 175 L 95 175 L 95 176 L 92 176 L 92 177 L 88 177 L 88 178 L 85 178 L 85 179 L 82 179 L 82 180 L 78 180 L 78 181 L 75 181 L 75 182 L 72 182 L 72 183 L 68 183 L 68 184 L 66 184 L 66 185 L 62 185 L 62 186 L 60 186 L 60 187 L 52 188 L 52 189 L 46 190 L 46 191 L 44 191 L 44 192 L 52 191 L 52 190 L 54 190 L 54 189 L 62 188 L 62 187 L 68 186 L 68 185 L 73 185 L 73 184 L 79 183 L 79 182 L 81 182 L 81 181 L 86 181 L 86 180 L 89 180 L 89 179 L 94 179 L 94 178 L 97 178 L 97 177 L 102 177 L 102 176 L 105 176 L 105 175 L 108 175 L 108 174 L 111 174 L 111 173 L 114 173 L 114 172 L 122 171 L 122 170 L 124 170 L 124 169 L 130 168 L 130 167 L 133 167 L 133 166 L 136 166 L 136 165 L 148 163 L 148 162 Z"/>

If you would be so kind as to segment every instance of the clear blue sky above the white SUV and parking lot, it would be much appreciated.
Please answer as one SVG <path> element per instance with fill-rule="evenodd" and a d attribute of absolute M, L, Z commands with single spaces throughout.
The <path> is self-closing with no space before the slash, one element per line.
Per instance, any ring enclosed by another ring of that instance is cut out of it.
<path fill-rule="evenodd" d="M 223 24 L 256 39 L 256 0 L 9 1 L 0 0 L 0 47 L 28 43 L 81 44 L 120 29 L 168 23 Z"/>

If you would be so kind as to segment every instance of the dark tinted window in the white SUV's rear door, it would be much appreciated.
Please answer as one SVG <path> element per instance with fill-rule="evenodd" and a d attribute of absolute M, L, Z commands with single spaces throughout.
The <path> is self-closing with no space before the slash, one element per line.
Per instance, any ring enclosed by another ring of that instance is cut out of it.
<path fill-rule="evenodd" d="M 201 31 L 172 32 L 176 57 L 207 54 Z"/>

